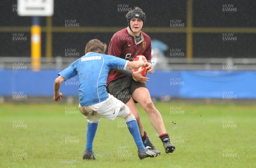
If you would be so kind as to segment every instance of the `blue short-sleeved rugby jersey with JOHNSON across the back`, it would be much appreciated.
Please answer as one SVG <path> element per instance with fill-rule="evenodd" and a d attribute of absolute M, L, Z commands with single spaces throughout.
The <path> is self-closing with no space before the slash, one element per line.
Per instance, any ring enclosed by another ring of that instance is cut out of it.
<path fill-rule="evenodd" d="M 125 69 L 128 60 L 112 55 L 89 52 L 58 73 L 65 80 L 79 77 L 79 102 L 81 106 L 100 103 L 108 98 L 106 82 L 112 67 Z"/>

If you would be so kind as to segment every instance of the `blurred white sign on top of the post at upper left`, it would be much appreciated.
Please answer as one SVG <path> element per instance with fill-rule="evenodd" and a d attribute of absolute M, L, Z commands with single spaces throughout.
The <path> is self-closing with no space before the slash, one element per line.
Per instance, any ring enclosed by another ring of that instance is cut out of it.
<path fill-rule="evenodd" d="M 17 0 L 19 16 L 52 16 L 53 0 Z"/>

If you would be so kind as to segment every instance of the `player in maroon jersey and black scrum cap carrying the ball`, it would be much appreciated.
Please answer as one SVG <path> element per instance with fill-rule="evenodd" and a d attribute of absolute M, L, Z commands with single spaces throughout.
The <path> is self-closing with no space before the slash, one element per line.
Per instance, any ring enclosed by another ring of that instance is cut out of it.
<path fill-rule="evenodd" d="M 137 55 L 144 55 L 150 65 L 146 67 L 148 73 L 153 73 L 151 63 L 151 39 L 141 31 L 145 23 L 145 13 L 142 9 L 135 7 L 126 14 L 128 27 L 116 32 L 111 38 L 108 55 L 114 55 L 133 61 Z M 143 123 L 140 114 L 135 106 L 139 103 L 148 114 L 151 124 L 159 134 L 159 138 L 163 142 L 166 153 L 175 151 L 175 146 L 169 139 L 169 134 L 163 124 L 160 112 L 154 106 L 145 81 L 149 78 L 141 75 L 142 70 L 134 72 L 132 70 L 121 70 L 114 68 L 108 73 L 107 90 L 108 93 L 125 103 L 134 113 L 137 119 L 140 136 L 145 146 L 156 149 L 149 141 L 147 133 L 143 129 Z M 132 77 L 136 78 L 135 81 Z"/>

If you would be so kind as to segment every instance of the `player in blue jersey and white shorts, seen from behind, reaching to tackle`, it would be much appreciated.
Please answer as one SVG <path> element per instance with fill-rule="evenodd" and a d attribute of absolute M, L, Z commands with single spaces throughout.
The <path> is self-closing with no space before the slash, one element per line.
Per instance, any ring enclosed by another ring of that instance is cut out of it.
<path fill-rule="evenodd" d="M 145 148 L 143 145 L 137 121 L 129 107 L 107 93 L 106 89 L 108 72 L 112 67 L 137 69 L 141 66 L 148 66 L 149 63 L 144 63 L 144 61 L 128 61 L 112 55 L 105 55 L 106 48 L 107 45 L 97 39 L 89 41 L 85 47 L 85 55 L 58 73 L 59 76 L 54 82 L 53 99 L 58 102 L 63 97 L 62 93 L 59 92 L 61 82 L 78 75 L 79 110 L 88 121 L 87 142 L 83 159 L 95 159 L 93 139 L 101 117 L 109 120 L 113 120 L 116 117 L 125 119 L 137 145 L 140 159 L 158 156 L 160 151 Z"/>

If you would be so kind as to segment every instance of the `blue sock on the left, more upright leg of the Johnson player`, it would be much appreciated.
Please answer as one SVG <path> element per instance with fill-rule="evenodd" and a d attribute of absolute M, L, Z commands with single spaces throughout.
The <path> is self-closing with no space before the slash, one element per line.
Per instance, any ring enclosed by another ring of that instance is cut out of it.
<path fill-rule="evenodd" d="M 93 153 L 93 139 L 94 139 L 94 136 L 96 134 L 98 123 L 99 123 L 99 121 L 96 122 L 96 123 L 89 123 L 88 122 L 88 125 L 87 125 L 87 136 L 86 136 L 86 141 L 87 142 L 86 142 L 85 149 L 89 150 L 90 154 Z"/>

